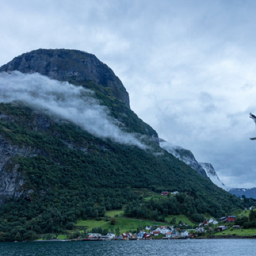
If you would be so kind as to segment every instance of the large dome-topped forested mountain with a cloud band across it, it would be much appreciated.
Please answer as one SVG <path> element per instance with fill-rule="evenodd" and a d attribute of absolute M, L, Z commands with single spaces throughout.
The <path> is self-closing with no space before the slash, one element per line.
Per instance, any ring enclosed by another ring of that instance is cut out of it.
<path fill-rule="evenodd" d="M 242 207 L 159 146 L 93 54 L 38 49 L 14 58 L 0 68 L 0 102 L 1 241 L 65 232 L 106 210 L 164 221 Z M 145 199 L 161 191 L 179 194 Z"/>

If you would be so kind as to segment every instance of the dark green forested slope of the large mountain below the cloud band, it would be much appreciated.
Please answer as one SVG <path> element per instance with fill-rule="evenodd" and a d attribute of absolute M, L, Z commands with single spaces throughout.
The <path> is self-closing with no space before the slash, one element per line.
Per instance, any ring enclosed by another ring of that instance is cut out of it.
<path fill-rule="evenodd" d="M 35 131 L 27 124 L 33 123 L 38 113 L 24 106 L 1 104 L 0 113 L 9 116 L 9 121 L 0 119 L 0 132 L 5 140 L 39 151 L 36 156 L 17 155 L 9 161 L 9 168 L 19 165 L 26 180 L 26 193 L 1 206 L 2 240 L 16 240 L 17 232 L 28 236 L 23 239 L 34 238 L 37 233 L 61 232 L 67 222 L 97 218 L 104 216 L 106 210 L 123 207 L 127 216 L 155 220 L 179 213 L 221 216 L 240 207 L 235 196 L 216 187 L 157 144 L 144 151 L 112 143 L 43 114 L 41 117 L 51 120 L 51 126 Z M 162 154 L 155 154 L 157 151 Z M 162 190 L 177 190 L 180 194 L 160 202 L 143 201 L 147 191 Z"/>

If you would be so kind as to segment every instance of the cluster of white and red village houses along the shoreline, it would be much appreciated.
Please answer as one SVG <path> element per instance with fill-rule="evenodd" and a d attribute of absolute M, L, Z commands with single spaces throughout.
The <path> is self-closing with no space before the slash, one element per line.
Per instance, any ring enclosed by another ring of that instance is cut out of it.
<path fill-rule="evenodd" d="M 206 233 L 222 232 L 227 229 L 240 229 L 238 225 L 232 225 L 235 222 L 235 216 L 229 215 L 222 218 L 206 219 L 200 223 L 195 229 L 183 229 L 187 226 L 186 223 L 180 223 L 179 227 L 174 226 L 146 226 L 145 231 L 141 230 L 138 233 L 122 233 L 116 236 L 115 233 L 107 233 L 107 235 L 101 235 L 100 233 L 88 233 L 86 238 L 78 238 L 78 240 L 95 241 L 95 240 L 176 240 L 176 239 L 191 239 L 201 237 Z M 221 225 L 218 225 L 221 224 Z"/>

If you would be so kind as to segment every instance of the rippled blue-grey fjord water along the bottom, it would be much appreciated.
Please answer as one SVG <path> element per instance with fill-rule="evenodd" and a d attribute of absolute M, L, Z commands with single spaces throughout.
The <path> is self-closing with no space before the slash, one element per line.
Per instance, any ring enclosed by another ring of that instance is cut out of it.
<path fill-rule="evenodd" d="M 255 255 L 256 240 L 91 241 L 0 243 L 0 256 Z"/>

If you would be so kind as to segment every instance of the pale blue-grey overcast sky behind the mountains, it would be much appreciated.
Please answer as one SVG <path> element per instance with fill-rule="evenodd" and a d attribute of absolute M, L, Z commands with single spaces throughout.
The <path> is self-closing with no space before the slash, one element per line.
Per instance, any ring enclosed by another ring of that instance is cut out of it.
<path fill-rule="evenodd" d="M 79 49 L 113 69 L 160 138 L 256 187 L 256 1 L 0 0 L 0 66 Z"/>

